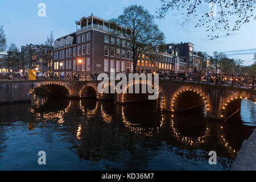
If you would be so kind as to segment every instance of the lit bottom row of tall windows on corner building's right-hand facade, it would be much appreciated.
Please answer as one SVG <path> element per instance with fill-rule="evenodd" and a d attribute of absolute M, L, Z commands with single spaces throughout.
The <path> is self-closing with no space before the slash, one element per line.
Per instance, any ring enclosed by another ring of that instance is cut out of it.
<path fill-rule="evenodd" d="M 104 72 L 123 72 L 133 70 L 133 63 L 129 61 L 115 61 L 104 59 Z"/>

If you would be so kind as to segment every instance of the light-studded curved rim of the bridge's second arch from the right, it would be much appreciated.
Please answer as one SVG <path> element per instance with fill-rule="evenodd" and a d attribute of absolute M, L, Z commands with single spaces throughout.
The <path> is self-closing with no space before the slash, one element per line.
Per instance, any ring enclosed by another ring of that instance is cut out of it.
<path fill-rule="evenodd" d="M 175 107 L 175 104 L 176 104 L 176 102 L 175 102 L 176 98 L 179 96 L 179 94 L 181 94 L 183 92 L 193 92 L 193 93 L 198 94 L 202 98 L 202 100 L 204 101 L 205 114 L 207 115 L 207 111 L 209 111 L 209 109 L 210 109 L 210 105 L 209 105 L 209 102 L 208 102 L 209 99 L 207 99 L 207 96 L 205 96 L 204 93 L 200 92 L 200 90 L 191 89 L 191 88 L 185 88 L 185 87 L 177 90 L 174 93 L 174 95 L 172 96 L 172 98 L 171 98 L 171 106 L 172 106 L 171 107 L 172 108 L 171 111 L 172 112 L 175 112 L 175 108 L 174 107 Z"/>

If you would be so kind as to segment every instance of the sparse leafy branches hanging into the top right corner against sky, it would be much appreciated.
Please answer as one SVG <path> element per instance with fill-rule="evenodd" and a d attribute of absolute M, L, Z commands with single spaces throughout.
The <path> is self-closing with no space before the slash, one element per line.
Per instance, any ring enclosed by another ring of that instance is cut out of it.
<path fill-rule="evenodd" d="M 243 23 L 250 22 L 251 19 L 256 19 L 255 7 L 256 0 L 160 0 L 162 6 L 156 11 L 158 18 L 164 18 L 168 11 L 179 11 L 184 15 L 184 24 L 190 18 L 196 18 L 195 27 L 205 26 L 209 31 L 211 39 L 218 38 L 221 31 L 226 35 L 230 31 L 240 30 Z M 210 10 L 204 14 L 198 14 L 197 10 L 202 10 L 202 5 L 207 5 Z M 231 18 L 232 17 L 232 18 Z M 232 22 L 234 19 L 234 22 Z"/>

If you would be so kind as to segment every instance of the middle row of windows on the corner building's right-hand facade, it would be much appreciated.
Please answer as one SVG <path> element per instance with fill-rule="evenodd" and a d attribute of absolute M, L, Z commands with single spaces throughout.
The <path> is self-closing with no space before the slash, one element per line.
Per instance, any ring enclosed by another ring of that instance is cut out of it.
<path fill-rule="evenodd" d="M 120 55 L 121 54 L 121 55 Z M 108 46 L 104 46 L 104 56 L 109 56 L 109 47 Z M 133 59 L 133 52 L 131 51 L 126 51 L 123 50 L 121 51 L 121 49 L 115 49 L 114 47 L 110 48 L 110 56 L 111 57 L 117 57 L 120 58 L 120 56 L 122 57 L 122 59 Z"/>

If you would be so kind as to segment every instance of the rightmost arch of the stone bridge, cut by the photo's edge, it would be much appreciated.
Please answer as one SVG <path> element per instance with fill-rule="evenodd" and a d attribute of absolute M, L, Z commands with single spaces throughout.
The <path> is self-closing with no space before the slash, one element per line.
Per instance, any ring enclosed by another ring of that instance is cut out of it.
<path fill-rule="evenodd" d="M 234 114 L 236 114 L 241 109 L 241 101 L 250 100 L 253 101 L 254 104 L 256 104 L 256 101 L 253 97 L 241 95 L 241 96 L 230 96 L 226 98 L 226 102 L 222 104 L 222 111 L 220 117 L 224 119 L 224 121 L 227 121 L 229 118 L 231 118 Z"/>

